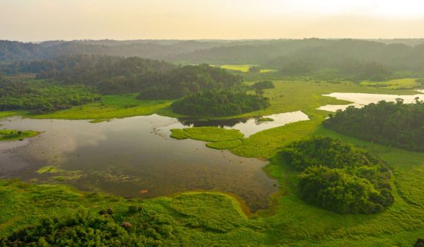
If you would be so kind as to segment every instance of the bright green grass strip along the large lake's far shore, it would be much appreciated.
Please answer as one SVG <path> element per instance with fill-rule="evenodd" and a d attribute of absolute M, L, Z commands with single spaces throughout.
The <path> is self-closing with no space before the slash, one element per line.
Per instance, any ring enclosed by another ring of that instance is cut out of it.
<path fill-rule="evenodd" d="M 172 114 L 168 109 L 172 100 L 137 100 L 136 96 L 137 94 L 105 95 L 102 97 L 102 102 L 84 104 L 52 114 L 30 115 L 30 117 L 34 119 L 93 119 L 92 123 L 98 123 L 107 119 L 146 116 L 158 112 L 177 115 Z"/>

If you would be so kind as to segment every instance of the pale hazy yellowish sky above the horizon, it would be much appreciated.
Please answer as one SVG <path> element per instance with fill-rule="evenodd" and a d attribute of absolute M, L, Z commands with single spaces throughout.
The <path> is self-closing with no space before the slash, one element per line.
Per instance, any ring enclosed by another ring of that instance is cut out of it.
<path fill-rule="evenodd" d="M 424 37 L 423 0 L 0 0 L 0 40 Z"/>

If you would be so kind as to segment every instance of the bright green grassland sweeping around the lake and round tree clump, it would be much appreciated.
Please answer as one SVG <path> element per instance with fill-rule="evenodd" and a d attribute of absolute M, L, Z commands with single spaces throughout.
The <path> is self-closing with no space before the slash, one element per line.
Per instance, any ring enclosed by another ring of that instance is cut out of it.
<path fill-rule="evenodd" d="M 274 84 L 276 88 L 265 90 L 265 96 L 271 100 L 269 109 L 241 116 L 266 116 L 301 110 L 310 116 L 310 120 L 271 128 L 249 138 L 242 138 L 239 131 L 214 127 L 172 130 L 174 138 L 205 140 L 209 147 L 228 149 L 240 156 L 269 159 L 264 171 L 277 179 L 280 185 L 269 210 L 248 214 L 247 217 L 242 213 L 242 205 L 223 193 L 188 192 L 148 200 L 124 200 L 112 195 L 81 193 L 66 186 L 0 181 L 0 236 L 33 224 L 40 216 L 66 214 L 78 207 L 93 211 L 111 207 L 120 221 L 138 222 L 142 220 L 140 215 L 128 215 L 126 211 L 129 205 L 143 205 L 151 214 L 172 225 L 173 236 L 163 240 L 164 246 L 412 246 L 418 237 L 423 237 L 424 153 L 376 145 L 335 133 L 322 126 L 328 112 L 317 110 L 325 104 L 348 104 L 322 96 L 331 92 L 396 95 L 417 92 L 315 80 L 281 80 Z M 149 108 L 144 104 L 139 105 L 140 112 L 166 113 L 169 102 L 163 102 L 163 108 Z M 117 117 L 113 112 L 124 112 L 124 105 L 122 108 L 115 107 L 108 113 L 110 115 L 99 116 L 99 119 Z M 93 112 L 98 108 L 93 107 Z M 146 109 L 143 111 L 143 108 Z M 78 116 L 77 109 L 69 111 Z M 353 143 L 387 162 L 393 175 L 394 204 L 375 215 L 338 215 L 300 200 L 296 186 L 298 171 L 290 169 L 275 155 L 284 145 L 312 135 Z"/>

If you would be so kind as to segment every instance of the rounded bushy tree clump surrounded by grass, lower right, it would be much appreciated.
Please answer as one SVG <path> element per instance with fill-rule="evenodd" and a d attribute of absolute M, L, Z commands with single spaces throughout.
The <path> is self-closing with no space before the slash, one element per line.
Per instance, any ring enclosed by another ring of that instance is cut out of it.
<path fill-rule="evenodd" d="M 348 143 L 314 137 L 286 146 L 278 157 L 301 172 L 299 193 L 312 205 L 340 214 L 372 214 L 394 202 L 382 160 Z"/>

